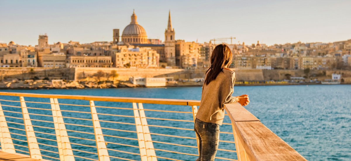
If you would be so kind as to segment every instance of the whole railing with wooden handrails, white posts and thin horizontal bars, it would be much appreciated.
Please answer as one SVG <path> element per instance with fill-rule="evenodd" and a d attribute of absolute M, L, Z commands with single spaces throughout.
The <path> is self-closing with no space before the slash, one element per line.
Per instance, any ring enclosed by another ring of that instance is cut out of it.
<path fill-rule="evenodd" d="M 199 105 L 196 100 L 0 92 L 1 150 L 61 161 L 195 160 L 193 122 Z M 226 104 L 225 110 L 231 123 L 221 127 L 217 160 L 305 160 L 241 105 Z"/>

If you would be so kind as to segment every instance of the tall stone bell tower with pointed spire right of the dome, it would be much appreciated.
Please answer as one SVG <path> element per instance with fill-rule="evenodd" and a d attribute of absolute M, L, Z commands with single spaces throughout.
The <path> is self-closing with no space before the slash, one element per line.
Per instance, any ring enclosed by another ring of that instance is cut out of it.
<path fill-rule="evenodd" d="M 171 11 L 168 13 L 168 26 L 165 31 L 165 56 L 168 66 L 176 66 L 176 40 L 172 28 Z"/>

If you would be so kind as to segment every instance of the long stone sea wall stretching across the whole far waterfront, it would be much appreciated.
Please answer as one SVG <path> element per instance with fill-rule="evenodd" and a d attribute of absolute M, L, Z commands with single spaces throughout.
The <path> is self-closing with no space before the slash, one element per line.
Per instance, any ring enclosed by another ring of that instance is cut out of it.
<path fill-rule="evenodd" d="M 109 76 L 111 71 L 115 70 L 118 77 L 114 79 Z M 305 76 L 304 70 L 260 70 L 260 69 L 232 69 L 236 74 L 236 80 L 250 81 L 250 80 L 283 80 L 290 77 L 303 77 Z M 65 79 L 65 80 L 78 80 L 78 81 L 97 81 L 96 73 L 102 71 L 104 74 L 100 80 L 128 80 L 130 77 L 173 77 L 175 80 L 188 80 L 192 78 L 204 78 L 207 69 L 132 69 L 132 68 L 31 68 L 31 67 L 12 67 L 0 68 L 0 80 L 2 77 L 5 79 L 17 78 L 21 80 L 32 79 L 38 77 L 39 79 L 49 78 L 52 79 Z M 310 70 L 309 76 L 330 77 L 332 73 L 338 73 L 342 77 L 351 77 L 351 71 L 344 70 Z"/>

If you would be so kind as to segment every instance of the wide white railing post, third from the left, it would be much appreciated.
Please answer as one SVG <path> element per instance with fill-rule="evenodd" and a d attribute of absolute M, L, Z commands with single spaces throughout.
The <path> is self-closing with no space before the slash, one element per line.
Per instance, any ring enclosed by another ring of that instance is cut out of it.
<path fill-rule="evenodd" d="M 59 102 L 57 98 L 50 98 L 50 103 L 60 161 L 74 161 L 71 143 L 69 143 L 69 138 L 66 131 L 64 119 L 62 118 Z"/>

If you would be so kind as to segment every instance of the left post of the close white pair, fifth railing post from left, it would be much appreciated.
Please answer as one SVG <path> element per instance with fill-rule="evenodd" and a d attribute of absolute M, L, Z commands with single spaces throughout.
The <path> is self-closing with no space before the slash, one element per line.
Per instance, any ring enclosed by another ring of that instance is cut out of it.
<path fill-rule="evenodd" d="M 138 136 L 141 161 L 147 161 L 143 125 L 141 124 L 137 103 L 133 103 L 133 111 L 134 111 L 135 127 L 137 128 L 137 136 Z"/>

